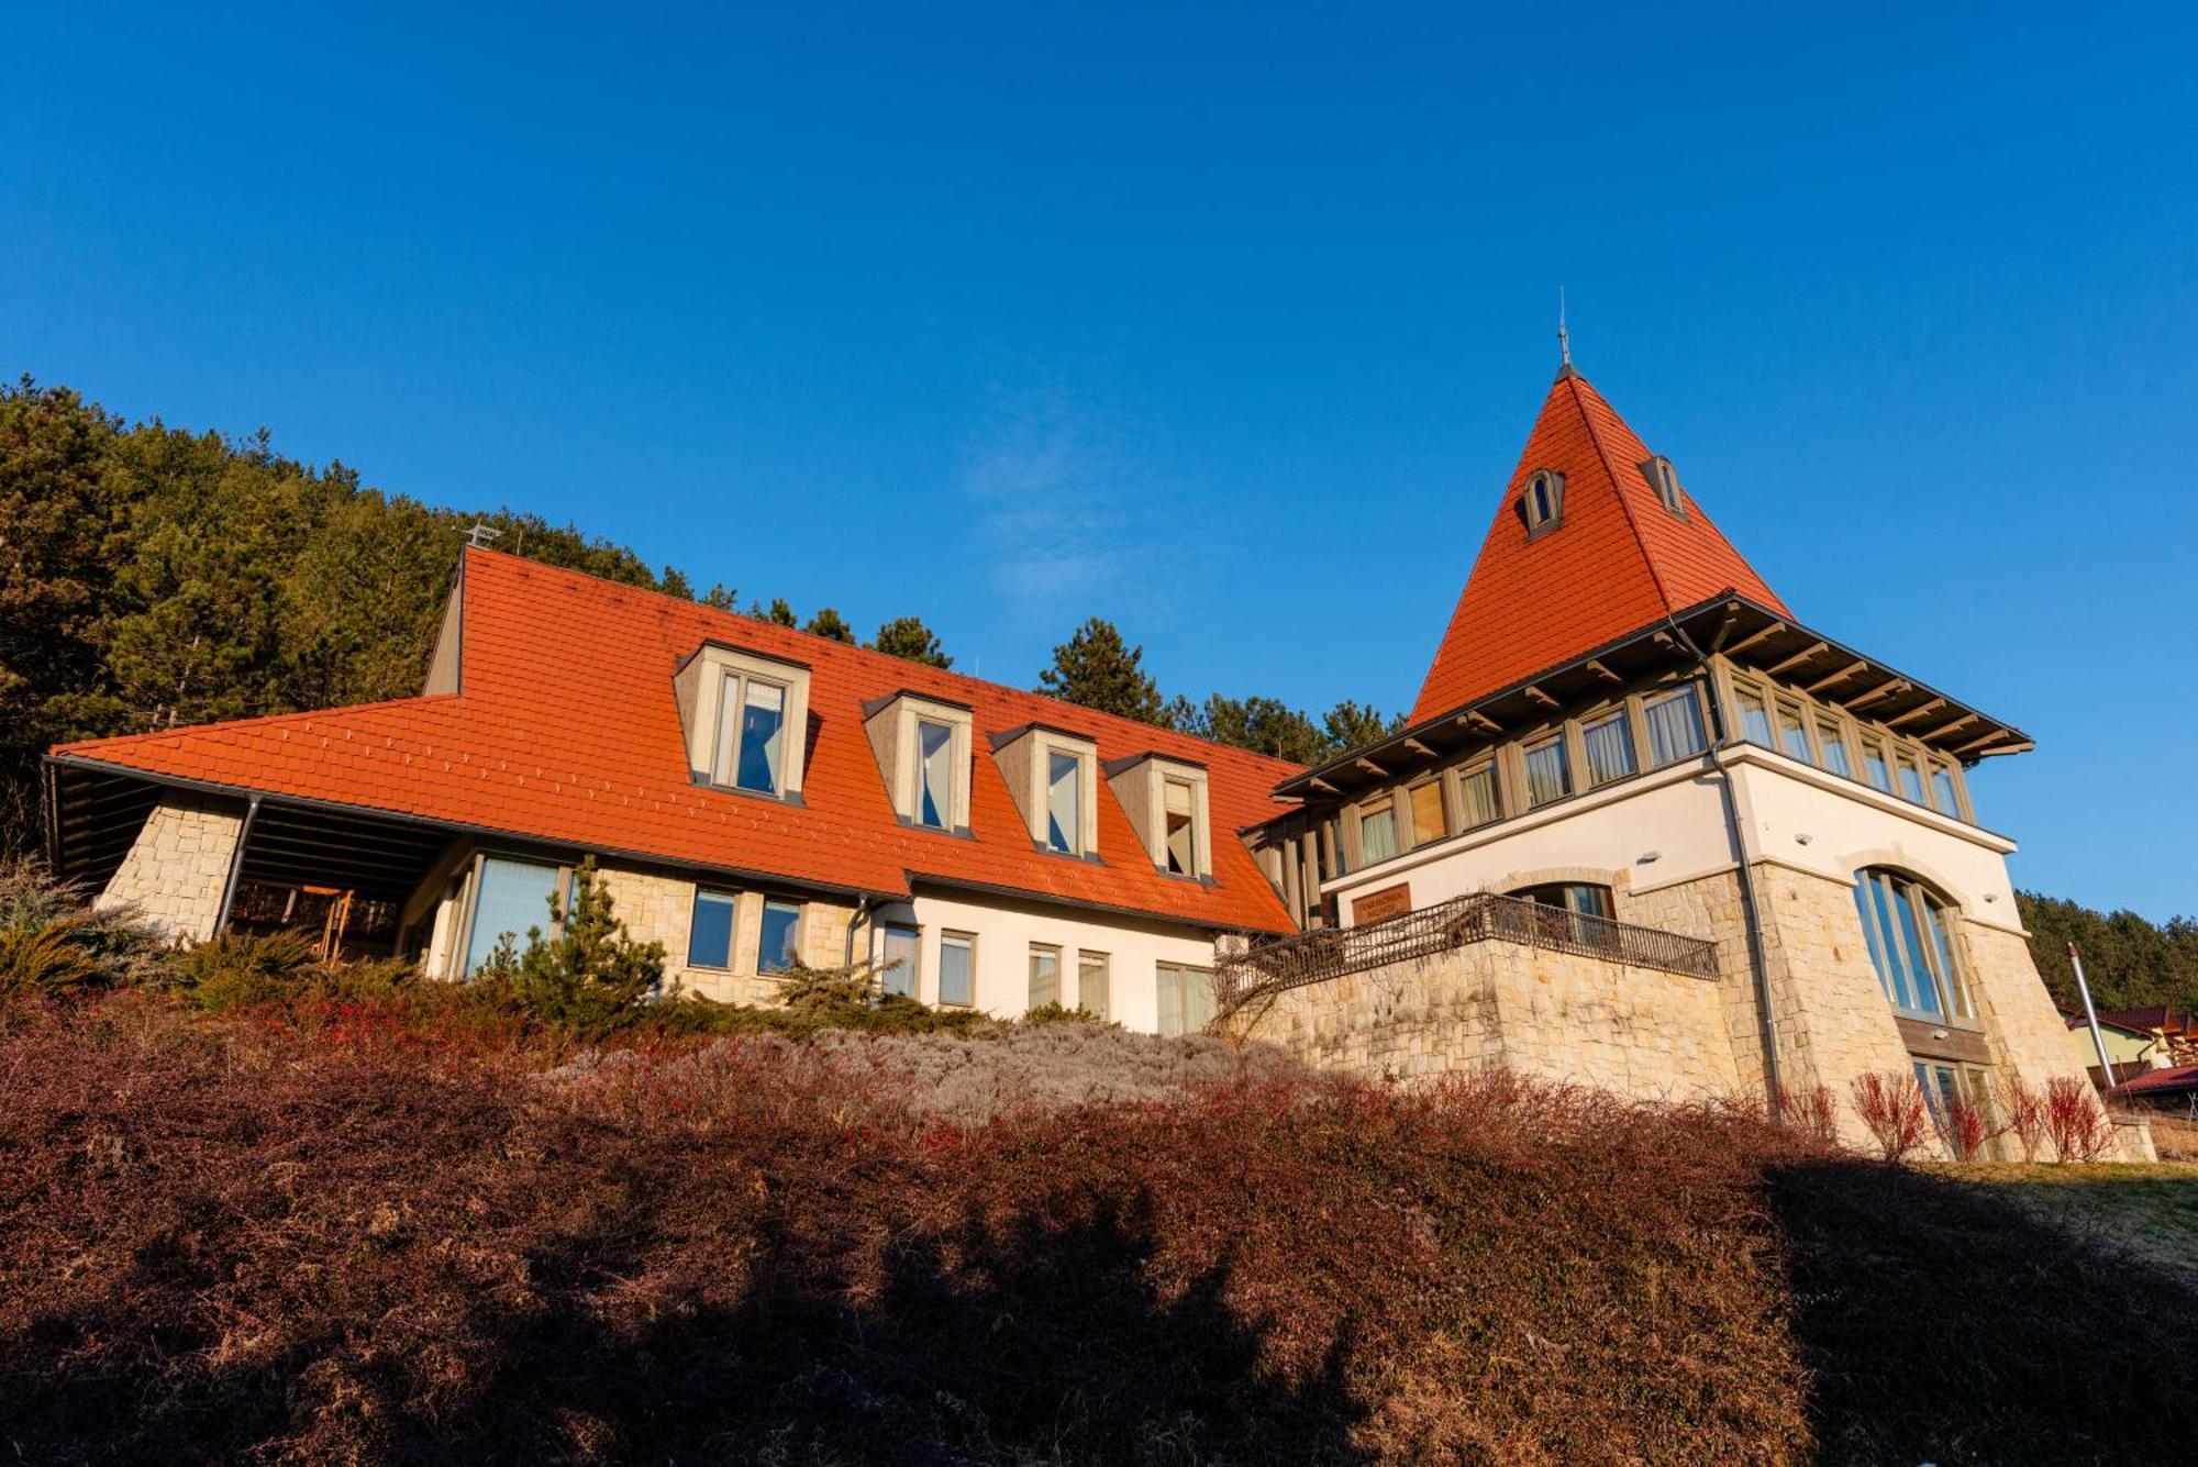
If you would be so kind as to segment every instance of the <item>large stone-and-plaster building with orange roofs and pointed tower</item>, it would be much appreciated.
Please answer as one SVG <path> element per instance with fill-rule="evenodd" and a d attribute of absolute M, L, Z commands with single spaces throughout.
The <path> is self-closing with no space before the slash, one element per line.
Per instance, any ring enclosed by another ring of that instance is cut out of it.
<path fill-rule="evenodd" d="M 462 977 L 593 859 L 712 997 L 875 960 L 1354 1070 L 1947 1107 L 2082 1074 L 1967 786 L 2029 747 L 1802 624 L 1567 360 L 1409 727 L 1321 769 L 468 549 L 420 696 L 64 744 L 48 806 L 180 936 Z"/>

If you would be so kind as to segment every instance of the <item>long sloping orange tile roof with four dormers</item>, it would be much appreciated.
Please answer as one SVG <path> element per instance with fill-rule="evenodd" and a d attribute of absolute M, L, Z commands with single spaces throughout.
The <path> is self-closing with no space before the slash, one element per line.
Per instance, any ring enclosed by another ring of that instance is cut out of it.
<path fill-rule="evenodd" d="M 1198 760 L 1215 832 L 1290 808 L 1270 791 L 1295 764 L 514 556 L 468 549 L 462 575 L 457 694 L 99 738 L 55 755 L 844 889 L 901 896 L 932 876 L 1205 927 L 1292 927 L 1240 841 L 1213 841 L 1213 885 L 1156 872 L 1106 780 L 1101 861 L 1035 850 L 983 736 L 1040 720 L 1090 738 L 1101 760 Z M 807 804 L 690 782 L 673 672 L 706 639 L 811 668 Z M 974 839 L 910 830 L 892 813 L 862 705 L 903 687 L 976 714 Z"/>

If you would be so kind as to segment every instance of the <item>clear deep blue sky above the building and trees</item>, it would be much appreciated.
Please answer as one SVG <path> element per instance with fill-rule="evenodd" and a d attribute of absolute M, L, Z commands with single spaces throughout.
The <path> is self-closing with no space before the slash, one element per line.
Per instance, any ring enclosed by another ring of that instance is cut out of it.
<path fill-rule="evenodd" d="M 2018 883 L 2198 911 L 2198 22 L 1367 9 L 33 7 L 0 371 L 1002 681 L 1099 613 L 1405 707 L 1565 285 L 1800 617 L 2038 736 Z"/>

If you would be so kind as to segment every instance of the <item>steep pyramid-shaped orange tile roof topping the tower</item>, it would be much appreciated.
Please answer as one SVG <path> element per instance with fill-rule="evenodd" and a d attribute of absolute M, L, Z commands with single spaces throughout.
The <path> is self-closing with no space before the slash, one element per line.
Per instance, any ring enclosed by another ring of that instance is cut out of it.
<path fill-rule="evenodd" d="M 1411 723 L 1547 672 L 1725 591 L 1787 613 L 1681 488 L 1664 509 L 1646 444 L 1587 378 L 1558 373 L 1411 707 Z M 1563 520 L 1528 540 L 1517 505 L 1536 470 L 1565 477 Z"/>

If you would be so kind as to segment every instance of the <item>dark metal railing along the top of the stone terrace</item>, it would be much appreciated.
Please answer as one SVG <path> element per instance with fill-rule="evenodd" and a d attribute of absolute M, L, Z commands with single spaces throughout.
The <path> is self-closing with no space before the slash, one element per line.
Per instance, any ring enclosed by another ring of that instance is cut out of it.
<path fill-rule="evenodd" d="M 1638 968 L 1717 977 L 1717 944 L 1710 940 L 1479 892 L 1378 922 L 1317 927 L 1277 938 L 1222 958 L 1213 966 L 1213 979 L 1226 1006 L 1251 988 L 1301 988 L 1391 962 L 1433 958 L 1468 942 L 1523 942 Z"/>

